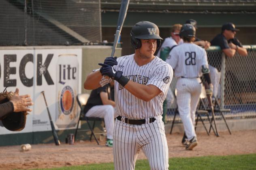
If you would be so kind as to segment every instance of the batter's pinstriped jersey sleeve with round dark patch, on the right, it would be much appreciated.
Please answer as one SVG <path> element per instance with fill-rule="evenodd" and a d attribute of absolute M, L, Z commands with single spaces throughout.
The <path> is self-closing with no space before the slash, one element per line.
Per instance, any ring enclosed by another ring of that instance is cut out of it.
<path fill-rule="evenodd" d="M 167 94 L 172 79 L 172 67 L 168 64 L 164 64 L 162 67 L 155 71 L 154 75 L 147 82 L 147 85 L 152 84 L 158 87 L 164 94 Z"/>

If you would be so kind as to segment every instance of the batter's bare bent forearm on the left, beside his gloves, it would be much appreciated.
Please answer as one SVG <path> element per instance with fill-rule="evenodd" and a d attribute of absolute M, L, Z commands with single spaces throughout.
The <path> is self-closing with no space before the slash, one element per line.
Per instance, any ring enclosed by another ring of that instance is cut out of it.
<path fill-rule="evenodd" d="M 100 73 L 100 71 L 94 71 L 92 73 L 90 73 L 85 82 L 83 83 L 83 88 L 87 89 L 87 90 L 93 90 L 96 88 L 100 87 L 100 80 L 102 78 L 102 75 Z"/>

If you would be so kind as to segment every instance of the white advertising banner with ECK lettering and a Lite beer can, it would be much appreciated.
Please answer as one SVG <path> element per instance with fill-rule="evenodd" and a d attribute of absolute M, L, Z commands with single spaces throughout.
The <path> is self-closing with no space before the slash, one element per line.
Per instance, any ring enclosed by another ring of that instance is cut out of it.
<path fill-rule="evenodd" d="M 30 94 L 34 103 L 21 132 L 11 132 L 0 124 L 0 134 L 51 130 L 42 91 L 56 130 L 75 128 L 81 56 L 81 48 L 0 50 L 0 91 L 19 88 L 19 95 Z"/>

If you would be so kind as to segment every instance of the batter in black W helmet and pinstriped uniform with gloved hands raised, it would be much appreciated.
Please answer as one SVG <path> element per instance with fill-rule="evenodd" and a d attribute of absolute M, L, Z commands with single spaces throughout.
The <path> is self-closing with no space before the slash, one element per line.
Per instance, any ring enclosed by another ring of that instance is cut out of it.
<path fill-rule="evenodd" d="M 87 76 L 85 89 L 94 89 L 114 80 L 117 118 L 114 126 L 115 170 L 134 170 L 139 151 L 151 169 L 168 170 L 168 147 L 162 122 L 162 104 L 173 78 L 173 69 L 154 56 L 162 38 L 158 27 L 141 21 L 130 31 L 135 53 L 106 58 L 99 71 Z M 107 75 L 111 79 L 102 77 Z"/>

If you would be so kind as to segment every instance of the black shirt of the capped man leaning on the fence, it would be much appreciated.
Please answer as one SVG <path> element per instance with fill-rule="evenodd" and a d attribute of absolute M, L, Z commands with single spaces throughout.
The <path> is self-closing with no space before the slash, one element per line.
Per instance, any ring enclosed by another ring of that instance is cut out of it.
<path fill-rule="evenodd" d="M 223 49 L 230 48 L 230 46 L 228 45 L 228 43 L 230 43 L 230 42 L 242 47 L 241 42 L 239 42 L 239 40 L 237 40 L 237 38 L 227 40 L 223 34 L 218 34 L 217 36 L 215 36 L 211 40 L 211 46 L 220 46 L 220 48 L 223 50 Z M 218 55 L 208 55 L 209 65 L 217 68 L 218 71 L 220 71 L 220 69 L 221 69 L 221 60 L 222 60 L 221 53 Z"/>

